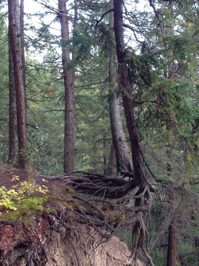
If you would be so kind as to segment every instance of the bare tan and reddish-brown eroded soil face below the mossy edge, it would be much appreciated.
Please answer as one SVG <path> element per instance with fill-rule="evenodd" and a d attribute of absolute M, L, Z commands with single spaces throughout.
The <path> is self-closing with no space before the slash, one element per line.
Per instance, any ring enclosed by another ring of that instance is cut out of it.
<path fill-rule="evenodd" d="M 77 259 L 82 266 L 130 265 L 130 251 L 124 242 L 114 236 L 100 244 L 103 240 L 89 226 L 74 224 L 69 230 L 53 215 L 42 215 L 30 230 L 22 224 L 3 224 L 0 265 L 70 266 L 78 265 Z M 142 265 L 139 261 L 138 266 Z"/>

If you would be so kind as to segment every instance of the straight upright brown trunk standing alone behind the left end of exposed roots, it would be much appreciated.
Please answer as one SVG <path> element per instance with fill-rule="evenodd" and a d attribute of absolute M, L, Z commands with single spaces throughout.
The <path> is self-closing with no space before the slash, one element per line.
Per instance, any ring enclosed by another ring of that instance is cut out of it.
<path fill-rule="evenodd" d="M 65 42 L 69 40 L 69 19 L 66 1 L 58 0 L 62 38 L 62 64 L 65 88 L 64 172 L 74 170 L 74 70 L 70 65 L 70 51 Z"/>

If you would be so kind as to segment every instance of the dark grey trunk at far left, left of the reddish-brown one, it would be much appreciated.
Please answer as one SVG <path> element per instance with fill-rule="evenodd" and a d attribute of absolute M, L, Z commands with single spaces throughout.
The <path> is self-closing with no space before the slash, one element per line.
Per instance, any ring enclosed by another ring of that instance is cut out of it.
<path fill-rule="evenodd" d="M 18 155 L 17 116 L 16 116 L 16 94 L 14 84 L 13 55 L 11 51 L 10 31 L 9 41 L 9 154 L 8 163 L 16 165 Z"/>

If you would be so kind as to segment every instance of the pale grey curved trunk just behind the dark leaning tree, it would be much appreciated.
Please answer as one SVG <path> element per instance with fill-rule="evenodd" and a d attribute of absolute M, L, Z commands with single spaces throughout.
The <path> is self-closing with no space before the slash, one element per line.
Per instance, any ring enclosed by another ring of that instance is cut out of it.
<path fill-rule="evenodd" d="M 113 0 L 110 3 L 110 9 L 113 9 Z M 114 19 L 113 11 L 110 12 L 109 27 L 113 33 Z M 114 33 L 113 33 L 114 34 Z M 113 144 L 116 155 L 117 172 L 132 172 L 132 160 L 128 152 L 128 146 L 123 131 L 122 120 L 120 115 L 119 98 L 117 98 L 116 92 L 118 84 L 117 77 L 117 56 L 114 53 L 115 50 L 115 38 L 110 40 L 113 49 L 109 55 L 109 113 L 111 120 L 111 133 L 113 137 Z M 111 158 L 111 157 L 110 157 Z M 109 163 L 110 164 L 110 163 Z"/>

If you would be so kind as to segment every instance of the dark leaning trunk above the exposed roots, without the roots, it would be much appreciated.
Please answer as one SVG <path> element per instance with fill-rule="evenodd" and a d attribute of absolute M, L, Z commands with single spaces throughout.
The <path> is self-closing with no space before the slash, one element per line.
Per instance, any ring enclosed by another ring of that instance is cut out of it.
<path fill-rule="evenodd" d="M 142 155 L 140 153 L 140 137 L 136 128 L 134 111 L 132 108 L 130 80 L 128 77 L 127 66 L 124 61 L 125 48 L 122 20 L 122 0 L 114 0 L 114 32 L 116 41 L 117 61 L 119 66 L 123 107 L 127 122 L 128 134 L 130 137 L 134 176 L 136 176 L 138 184 L 144 186 L 144 184 L 146 183 L 145 180 L 147 178 L 147 173 L 144 167 Z"/>

